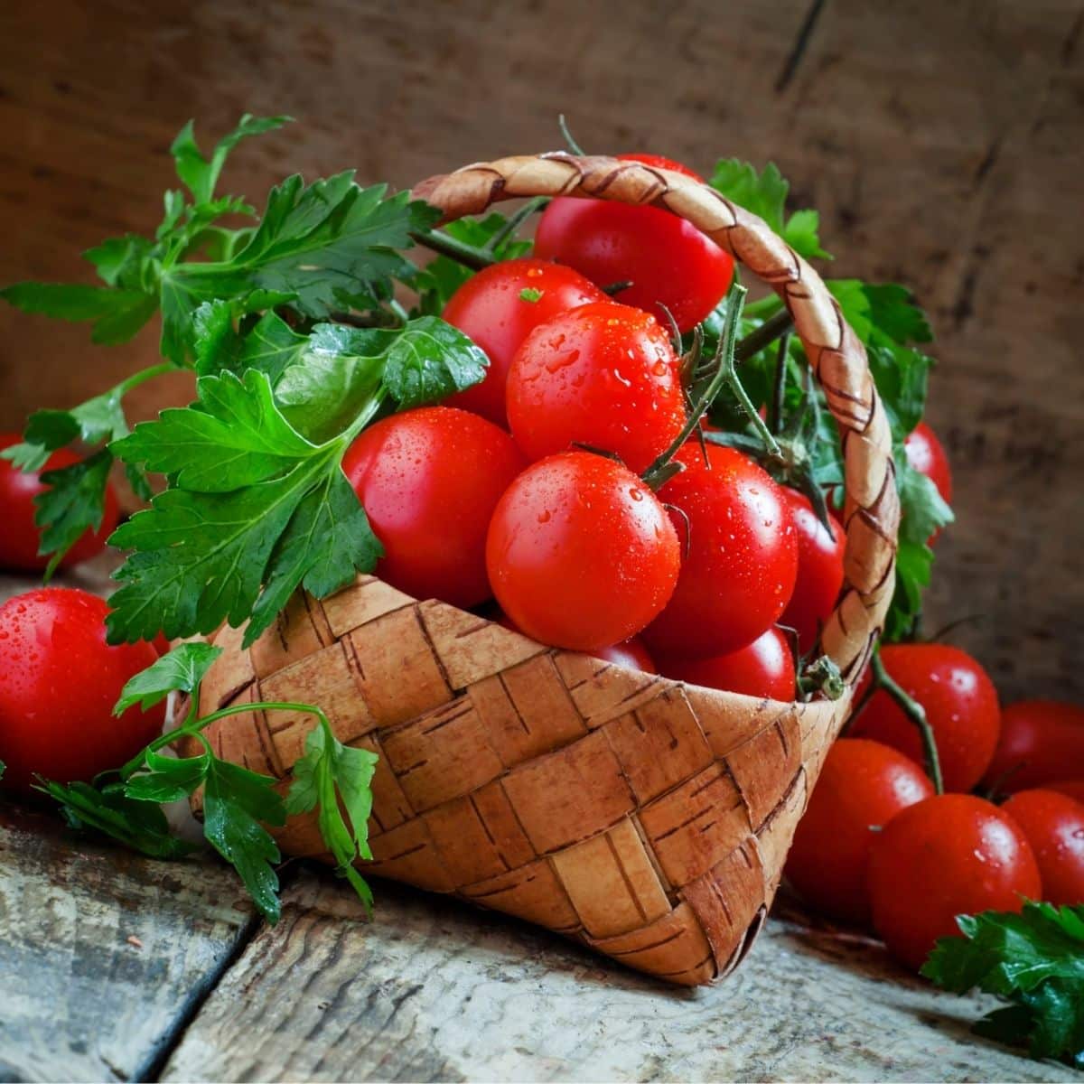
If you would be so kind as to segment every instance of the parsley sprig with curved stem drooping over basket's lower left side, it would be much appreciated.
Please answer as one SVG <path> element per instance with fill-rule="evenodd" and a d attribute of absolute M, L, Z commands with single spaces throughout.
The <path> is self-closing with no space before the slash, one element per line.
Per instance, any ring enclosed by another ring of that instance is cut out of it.
<path fill-rule="evenodd" d="M 372 893 L 353 863 L 372 857 L 369 815 L 376 754 L 343 745 L 314 705 L 261 701 L 201 717 L 199 684 L 220 654 L 221 648 L 210 644 L 181 644 L 136 674 L 121 691 L 114 714 L 137 704 L 145 710 L 181 692 L 189 695 L 189 710 L 180 725 L 155 738 L 124 767 L 103 773 L 93 785 L 41 780 L 38 789 L 60 802 L 72 826 L 95 829 L 152 857 L 177 859 L 191 852 L 192 844 L 170 831 L 162 804 L 191 798 L 202 787 L 207 841 L 236 869 L 260 914 L 271 922 L 281 913 L 274 869 L 281 854 L 266 826 L 285 824 L 287 814 L 317 810 L 339 875 L 371 907 Z M 228 715 L 275 710 L 306 712 L 317 720 L 305 756 L 294 765 L 285 800 L 275 789 L 278 779 L 217 757 L 203 733 Z M 195 738 L 203 752 L 175 758 L 159 751 L 183 738 Z"/>

